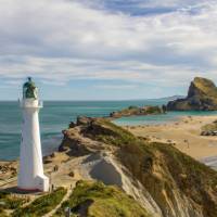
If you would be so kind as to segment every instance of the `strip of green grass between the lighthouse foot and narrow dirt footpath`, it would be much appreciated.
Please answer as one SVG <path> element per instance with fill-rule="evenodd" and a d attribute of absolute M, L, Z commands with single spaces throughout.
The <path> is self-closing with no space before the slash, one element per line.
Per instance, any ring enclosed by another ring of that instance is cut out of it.
<path fill-rule="evenodd" d="M 24 208 L 17 208 L 12 216 L 14 217 L 39 217 L 51 212 L 58 206 L 63 196 L 66 194 L 66 189 L 59 188 L 52 193 L 36 199 L 31 204 Z"/>

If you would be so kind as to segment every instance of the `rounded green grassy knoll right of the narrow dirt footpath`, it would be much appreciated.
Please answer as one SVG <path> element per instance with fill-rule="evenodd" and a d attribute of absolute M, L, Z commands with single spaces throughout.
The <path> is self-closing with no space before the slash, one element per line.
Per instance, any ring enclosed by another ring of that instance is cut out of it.
<path fill-rule="evenodd" d="M 78 181 L 55 217 L 64 216 L 65 207 L 71 207 L 74 216 L 82 213 L 87 217 L 150 217 L 133 199 L 102 182 Z"/>

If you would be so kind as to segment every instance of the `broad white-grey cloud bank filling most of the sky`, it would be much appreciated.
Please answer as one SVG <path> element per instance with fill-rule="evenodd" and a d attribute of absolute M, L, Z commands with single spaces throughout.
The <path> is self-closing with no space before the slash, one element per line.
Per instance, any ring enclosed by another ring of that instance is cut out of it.
<path fill-rule="evenodd" d="M 2 0 L 0 77 L 34 74 L 52 85 L 107 79 L 162 87 L 181 86 L 194 75 L 215 78 L 216 3 L 137 1 L 140 7 L 180 2 L 170 13 L 130 16 L 78 1 Z"/>

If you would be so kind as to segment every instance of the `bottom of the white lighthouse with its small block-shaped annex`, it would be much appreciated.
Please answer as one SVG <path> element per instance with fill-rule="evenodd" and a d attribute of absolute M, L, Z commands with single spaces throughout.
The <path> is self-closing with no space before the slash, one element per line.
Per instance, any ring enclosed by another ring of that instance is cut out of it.
<path fill-rule="evenodd" d="M 34 184 L 29 186 L 29 183 L 18 183 L 18 189 L 24 191 L 49 191 L 49 178 L 44 175 L 37 176 L 34 179 Z"/>

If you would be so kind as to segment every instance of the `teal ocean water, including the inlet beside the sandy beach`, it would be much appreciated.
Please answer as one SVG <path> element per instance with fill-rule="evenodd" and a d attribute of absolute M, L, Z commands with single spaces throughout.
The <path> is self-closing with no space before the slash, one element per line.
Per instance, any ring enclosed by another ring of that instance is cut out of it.
<path fill-rule="evenodd" d="M 129 105 L 162 105 L 165 100 L 135 101 L 80 101 L 62 102 L 46 101 L 40 111 L 40 129 L 43 154 L 58 149 L 62 140 L 62 130 L 77 116 L 107 116 L 111 112 Z M 124 117 L 116 119 L 117 125 L 153 125 L 175 122 L 183 115 L 217 115 L 217 112 L 169 112 L 166 115 Z M 18 102 L 0 102 L 0 161 L 16 159 L 20 155 L 22 111 Z"/>

